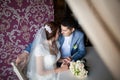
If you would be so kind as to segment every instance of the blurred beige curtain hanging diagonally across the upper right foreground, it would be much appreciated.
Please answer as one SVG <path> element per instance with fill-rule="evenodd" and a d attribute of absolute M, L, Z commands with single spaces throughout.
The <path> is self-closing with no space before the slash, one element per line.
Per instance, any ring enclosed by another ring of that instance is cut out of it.
<path fill-rule="evenodd" d="M 116 80 L 120 79 L 120 0 L 66 0 Z"/>

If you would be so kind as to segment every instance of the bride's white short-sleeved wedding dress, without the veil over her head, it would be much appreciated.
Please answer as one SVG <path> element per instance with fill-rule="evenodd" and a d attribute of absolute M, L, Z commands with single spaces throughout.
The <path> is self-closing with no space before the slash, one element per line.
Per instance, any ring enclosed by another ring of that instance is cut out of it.
<path fill-rule="evenodd" d="M 28 64 L 27 75 L 29 80 L 59 80 L 58 75 L 54 72 L 46 75 L 40 75 L 36 72 L 36 66 L 39 65 L 36 64 L 35 61 L 37 56 L 43 57 L 44 70 L 53 70 L 56 68 L 56 62 L 60 58 L 60 52 L 57 55 L 51 55 L 47 45 L 48 44 L 41 44 L 40 46 L 35 47 L 34 53 L 31 55 L 30 62 Z M 41 67 L 42 65 L 39 66 Z"/>

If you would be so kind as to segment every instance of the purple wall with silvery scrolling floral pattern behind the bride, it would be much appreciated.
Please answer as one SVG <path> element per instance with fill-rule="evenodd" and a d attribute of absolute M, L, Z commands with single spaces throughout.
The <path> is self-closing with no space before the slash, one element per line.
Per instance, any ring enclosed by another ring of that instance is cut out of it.
<path fill-rule="evenodd" d="M 53 0 L 0 0 L 0 80 L 18 80 L 10 62 L 53 20 Z"/>

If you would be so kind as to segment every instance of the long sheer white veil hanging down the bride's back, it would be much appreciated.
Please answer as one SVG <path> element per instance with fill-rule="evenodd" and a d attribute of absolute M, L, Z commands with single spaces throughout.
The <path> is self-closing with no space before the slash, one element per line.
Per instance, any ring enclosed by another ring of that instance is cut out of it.
<path fill-rule="evenodd" d="M 35 53 L 39 53 L 40 48 L 41 48 L 41 43 L 46 40 L 46 33 L 45 33 L 45 28 L 41 27 L 33 40 L 32 47 L 31 47 L 31 52 L 30 52 L 30 58 L 28 62 L 28 67 L 27 67 L 27 76 L 28 77 L 33 77 L 35 78 L 36 76 L 36 62 L 35 62 Z"/>

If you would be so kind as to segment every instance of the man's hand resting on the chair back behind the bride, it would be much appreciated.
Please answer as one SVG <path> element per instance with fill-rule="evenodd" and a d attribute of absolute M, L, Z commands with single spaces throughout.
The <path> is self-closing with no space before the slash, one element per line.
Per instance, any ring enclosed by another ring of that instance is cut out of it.
<path fill-rule="evenodd" d="M 17 59 L 15 61 L 16 65 L 20 66 L 20 68 L 23 69 L 26 66 L 27 62 L 28 62 L 28 57 L 29 57 L 29 54 L 26 53 L 26 52 L 18 55 Z"/>

